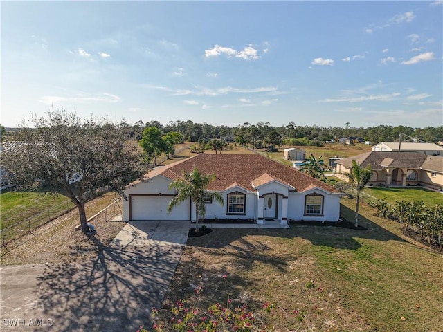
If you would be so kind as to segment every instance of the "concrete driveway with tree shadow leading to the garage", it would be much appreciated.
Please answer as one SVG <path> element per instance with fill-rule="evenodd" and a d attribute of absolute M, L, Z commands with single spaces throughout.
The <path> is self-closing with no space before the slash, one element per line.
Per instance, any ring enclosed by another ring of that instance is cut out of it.
<path fill-rule="evenodd" d="M 81 264 L 1 267 L 0 330 L 150 326 L 150 309 L 163 303 L 188 230 L 187 221 L 128 223 L 110 246 L 97 243 L 97 257 Z"/>

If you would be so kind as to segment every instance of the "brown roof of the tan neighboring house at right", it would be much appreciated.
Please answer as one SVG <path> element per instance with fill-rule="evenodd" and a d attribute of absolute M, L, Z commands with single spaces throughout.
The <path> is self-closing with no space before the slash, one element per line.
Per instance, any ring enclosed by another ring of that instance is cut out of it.
<path fill-rule="evenodd" d="M 370 151 L 341 160 L 336 163 L 345 167 L 352 167 L 355 160 L 361 167 L 371 165 L 374 171 L 384 167 L 408 167 L 410 169 L 427 169 L 443 173 L 443 156 L 428 156 L 419 152 L 401 151 Z"/>

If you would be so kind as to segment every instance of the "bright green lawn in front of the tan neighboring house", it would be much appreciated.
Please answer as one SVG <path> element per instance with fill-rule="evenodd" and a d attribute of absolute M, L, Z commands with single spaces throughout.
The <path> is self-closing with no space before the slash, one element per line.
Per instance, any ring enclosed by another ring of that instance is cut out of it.
<path fill-rule="evenodd" d="M 363 192 L 377 199 L 385 199 L 387 203 L 392 205 L 395 204 L 395 201 L 424 201 L 426 205 L 430 206 L 443 203 L 441 192 L 433 192 L 425 188 L 365 187 Z"/>

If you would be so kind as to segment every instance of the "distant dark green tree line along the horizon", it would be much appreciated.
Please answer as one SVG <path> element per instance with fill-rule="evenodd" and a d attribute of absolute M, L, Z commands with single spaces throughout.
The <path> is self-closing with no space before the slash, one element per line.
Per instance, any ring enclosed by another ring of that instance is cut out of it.
<path fill-rule="evenodd" d="M 321 145 L 323 142 L 332 142 L 340 138 L 360 137 L 372 144 L 378 142 L 398 142 L 400 134 L 404 134 L 402 141 L 416 138 L 422 142 L 439 142 L 443 140 L 443 125 L 439 127 L 413 128 L 407 126 L 388 126 L 381 124 L 376 127 L 352 127 L 350 122 L 344 127 L 320 127 L 317 125 L 301 126 L 295 122 L 278 127 L 271 126 L 269 122 L 251 124 L 245 122 L 236 127 L 225 125 L 214 126 L 188 121 L 170 121 L 161 124 L 159 121 L 138 121 L 134 125 L 127 124 L 129 139 L 141 140 L 143 131 L 147 127 L 156 127 L 163 135 L 177 132 L 183 140 L 189 142 L 209 141 L 212 139 L 233 140 L 237 144 L 259 146 L 263 143 L 280 142 L 284 145 Z M 278 144 L 275 144 L 278 145 Z"/>

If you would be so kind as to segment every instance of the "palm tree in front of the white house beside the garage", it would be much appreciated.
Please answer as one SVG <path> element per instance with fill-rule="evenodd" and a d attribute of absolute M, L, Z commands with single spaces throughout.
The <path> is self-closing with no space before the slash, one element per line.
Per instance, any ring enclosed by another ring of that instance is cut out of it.
<path fill-rule="evenodd" d="M 206 214 L 206 199 L 217 201 L 221 205 L 224 204 L 223 195 L 219 192 L 208 192 L 206 188 L 209 183 L 215 180 L 215 174 L 201 174 L 197 167 L 191 172 L 183 171 L 181 178 L 170 183 L 169 188 L 177 190 L 177 195 L 168 204 L 168 213 L 180 203 L 191 199 L 195 203 L 196 223 L 195 229 L 199 229 L 199 216 L 204 218 Z"/>

